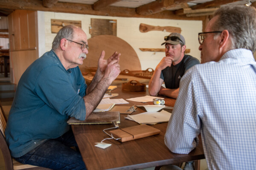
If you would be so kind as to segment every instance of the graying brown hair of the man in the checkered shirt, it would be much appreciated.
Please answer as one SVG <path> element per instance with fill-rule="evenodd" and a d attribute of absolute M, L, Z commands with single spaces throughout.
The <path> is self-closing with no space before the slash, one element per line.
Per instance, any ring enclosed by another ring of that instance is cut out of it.
<path fill-rule="evenodd" d="M 228 30 L 232 41 L 231 49 L 245 48 L 256 51 L 256 10 L 241 5 L 225 5 L 215 11 L 218 19 L 213 31 Z"/>

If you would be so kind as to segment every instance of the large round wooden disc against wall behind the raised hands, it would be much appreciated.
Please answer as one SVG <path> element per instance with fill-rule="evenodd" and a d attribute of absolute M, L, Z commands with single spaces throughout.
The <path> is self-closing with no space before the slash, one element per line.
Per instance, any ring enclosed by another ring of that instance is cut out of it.
<path fill-rule="evenodd" d="M 88 39 L 89 53 L 84 59 L 83 65 L 79 65 L 81 71 L 87 72 L 87 68 L 97 68 L 99 56 L 105 51 L 105 59 L 108 59 L 115 51 L 121 53 L 119 65 L 120 70 L 141 70 L 140 60 L 125 40 L 113 35 L 98 35 Z"/>

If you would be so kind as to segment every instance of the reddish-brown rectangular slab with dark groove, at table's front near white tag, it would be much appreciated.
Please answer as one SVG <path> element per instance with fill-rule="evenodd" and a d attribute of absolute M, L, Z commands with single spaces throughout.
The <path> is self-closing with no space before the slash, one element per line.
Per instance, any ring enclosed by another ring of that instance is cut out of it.
<path fill-rule="evenodd" d="M 160 133 L 160 130 L 148 125 L 137 125 L 117 130 L 111 130 L 109 133 L 111 133 L 115 138 L 121 138 L 119 141 L 126 142 L 134 139 L 157 135 Z"/>

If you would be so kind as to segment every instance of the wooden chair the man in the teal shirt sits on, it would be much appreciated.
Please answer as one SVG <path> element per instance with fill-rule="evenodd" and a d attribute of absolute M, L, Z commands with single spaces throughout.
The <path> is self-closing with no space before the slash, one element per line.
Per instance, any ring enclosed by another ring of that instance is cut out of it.
<path fill-rule="evenodd" d="M 0 149 L 3 153 L 3 159 L 5 163 L 6 170 L 50 170 L 44 167 L 37 167 L 29 164 L 21 164 L 12 158 L 9 147 L 5 138 L 5 128 L 6 128 L 7 117 L 3 111 L 2 104 L 0 102 Z"/>

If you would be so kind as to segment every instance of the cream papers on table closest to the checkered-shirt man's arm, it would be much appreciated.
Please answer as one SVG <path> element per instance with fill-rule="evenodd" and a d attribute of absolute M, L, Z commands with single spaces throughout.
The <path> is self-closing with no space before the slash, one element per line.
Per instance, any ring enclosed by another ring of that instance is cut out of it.
<path fill-rule="evenodd" d="M 133 120 L 141 125 L 149 124 L 154 125 L 160 122 L 168 122 L 172 113 L 167 111 L 160 112 L 144 112 L 136 115 L 127 115 L 125 119 Z"/>

